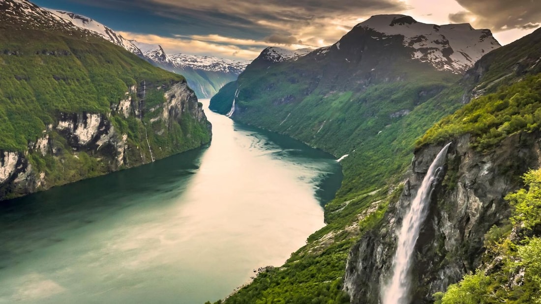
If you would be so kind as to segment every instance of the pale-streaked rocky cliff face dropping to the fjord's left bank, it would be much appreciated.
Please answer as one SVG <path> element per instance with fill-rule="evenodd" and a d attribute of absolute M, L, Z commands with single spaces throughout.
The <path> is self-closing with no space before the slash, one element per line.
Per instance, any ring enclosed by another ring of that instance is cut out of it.
<path fill-rule="evenodd" d="M 35 143 L 30 142 L 24 153 L 0 151 L 0 200 L 150 163 L 208 142 L 199 140 L 162 149 L 156 138 L 167 132 L 174 133 L 170 130 L 175 129 L 175 125 L 182 128 L 186 119 L 203 126 L 202 131 L 209 134 L 210 124 L 202 104 L 197 102 L 186 82 L 156 88 L 163 90 L 163 102 L 152 107 L 144 104 L 146 86 L 146 83 L 141 88 L 131 86 L 126 97 L 112 104 L 107 114 L 58 113 L 57 121 L 48 125 Z M 135 117 L 140 133 L 119 130 L 111 120 L 115 116 Z M 143 144 L 137 145 L 138 142 Z M 40 164 L 38 158 L 48 164 Z M 60 174 L 47 170 L 51 164 L 61 167 L 61 172 L 57 172 Z"/>

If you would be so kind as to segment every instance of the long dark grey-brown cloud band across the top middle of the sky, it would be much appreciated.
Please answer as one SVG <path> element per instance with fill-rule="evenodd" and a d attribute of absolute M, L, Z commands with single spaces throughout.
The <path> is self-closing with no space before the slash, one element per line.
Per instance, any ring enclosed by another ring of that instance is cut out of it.
<path fill-rule="evenodd" d="M 230 31 L 236 37 L 292 35 L 322 18 L 366 17 L 406 8 L 399 0 L 75 0 L 104 8 L 140 8 L 174 20 L 177 29 L 190 27 Z M 287 26 L 286 26 L 287 25 Z M 277 32 L 276 28 L 281 30 Z M 214 32 L 215 32 L 214 31 Z M 337 37 L 339 38 L 339 37 Z"/>

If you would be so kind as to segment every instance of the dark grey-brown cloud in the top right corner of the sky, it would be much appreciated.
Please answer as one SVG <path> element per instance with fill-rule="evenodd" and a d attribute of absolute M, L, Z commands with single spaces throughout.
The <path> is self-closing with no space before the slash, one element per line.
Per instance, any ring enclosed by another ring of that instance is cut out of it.
<path fill-rule="evenodd" d="M 541 25 L 539 0 L 457 0 L 469 12 L 449 15 L 452 22 L 469 22 L 493 31 L 534 29 Z M 476 18 L 471 22 L 472 18 Z"/>

